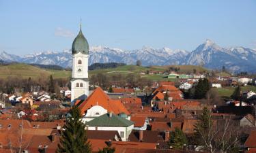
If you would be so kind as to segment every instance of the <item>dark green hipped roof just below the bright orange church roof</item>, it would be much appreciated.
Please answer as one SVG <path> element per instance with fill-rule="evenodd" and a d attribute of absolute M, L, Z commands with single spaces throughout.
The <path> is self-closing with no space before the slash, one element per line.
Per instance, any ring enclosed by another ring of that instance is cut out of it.
<path fill-rule="evenodd" d="M 130 120 L 121 118 L 115 114 L 103 114 L 94 120 L 85 123 L 87 126 L 98 126 L 98 127 L 128 127 L 134 124 Z"/>

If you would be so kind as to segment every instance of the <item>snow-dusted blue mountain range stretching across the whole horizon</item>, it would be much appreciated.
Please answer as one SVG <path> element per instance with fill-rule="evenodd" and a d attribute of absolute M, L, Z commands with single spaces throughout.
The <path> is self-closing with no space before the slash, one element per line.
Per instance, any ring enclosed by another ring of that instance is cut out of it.
<path fill-rule="evenodd" d="M 0 60 L 5 62 L 35 63 L 42 65 L 59 65 L 72 67 L 71 50 L 63 52 L 38 52 L 25 56 L 0 52 Z M 223 48 L 207 39 L 195 50 L 171 50 L 170 48 L 154 49 L 143 47 L 139 50 L 121 50 L 102 46 L 91 47 L 89 65 L 93 63 L 126 63 L 134 65 L 140 60 L 142 65 L 203 65 L 210 69 L 226 69 L 232 72 L 256 72 L 256 51 L 250 48 Z"/>

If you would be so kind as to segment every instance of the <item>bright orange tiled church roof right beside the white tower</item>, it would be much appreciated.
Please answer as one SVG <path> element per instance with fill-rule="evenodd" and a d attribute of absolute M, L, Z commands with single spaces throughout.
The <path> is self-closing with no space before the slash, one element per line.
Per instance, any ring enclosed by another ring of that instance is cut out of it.
<path fill-rule="evenodd" d="M 80 103 L 79 109 L 84 114 L 87 109 L 94 105 L 100 105 L 108 112 L 113 112 L 114 114 L 130 114 L 119 99 L 111 99 L 100 87 L 96 88 L 85 101 Z"/>

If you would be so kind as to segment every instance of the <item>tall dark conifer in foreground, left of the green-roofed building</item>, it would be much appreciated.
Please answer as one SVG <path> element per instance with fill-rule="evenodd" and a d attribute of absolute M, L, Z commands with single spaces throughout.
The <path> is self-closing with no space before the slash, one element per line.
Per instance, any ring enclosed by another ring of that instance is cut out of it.
<path fill-rule="evenodd" d="M 77 106 L 70 109 L 70 116 L 66 120 L 64 131 L 61 133 L 57 152 L 89 153 L 91 145 L 87 141 L 85 124 L 81 122 L 81 112 Z"/>

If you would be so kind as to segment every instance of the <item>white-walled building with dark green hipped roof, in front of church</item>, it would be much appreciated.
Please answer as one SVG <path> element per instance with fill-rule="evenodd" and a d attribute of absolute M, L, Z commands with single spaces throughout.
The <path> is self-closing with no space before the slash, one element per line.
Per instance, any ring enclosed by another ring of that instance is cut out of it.
<path fill-rule="evenodd" d="M 134 128 L 134 122 L 113 113 L 103 114 L 94 120 L 85 122 L 87 130 L 118 131 L 122 141 L 127 141 Z"/>

